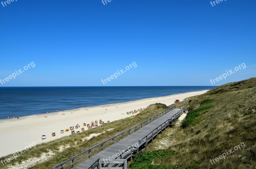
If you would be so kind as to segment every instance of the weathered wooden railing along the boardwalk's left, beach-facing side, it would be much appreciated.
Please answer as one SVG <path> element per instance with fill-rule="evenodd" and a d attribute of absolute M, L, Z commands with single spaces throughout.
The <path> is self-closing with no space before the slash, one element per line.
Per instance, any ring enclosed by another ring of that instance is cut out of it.
<path fill-rule="evenodd" d="M 67 159 L 66 161 L 63 161 L 62 163 L 60 163 L 58 165 L 55 165 L 54 167 L 52 167 L 52 169 L 68 169 L 68 168 L 73 168 L 74 165 L 76 165 L 77 163 L 83 161 L 86 158 L 90 158 L 92 155 L 97 154 L 100 151 L 108 148 L 109 146 L 111 146 L 114 143 L 122 140 L 124 137 L 126 137 L 126 136 L 128 136 L 128 135 L 130 135 L 130 134 L 132 134 L 134 132 L 136 132 L 137 130 L 139 130 L 140 128 L 142 128 L 142 127 L 146 126 L 147 124 L 151 123 L 155 119 L 158 119 L 159 117 L 162 117 L 164 114 L 166 114 L 169 111 L 172 111 L 173 109 L 175 109 L 175 106 L 172 106 L 172 107 L 170 107 L 170 108 L 168 108 L 168 109 L 166 109 L 166 110 L 156 114 L 155 116 L 153 116 L 153 117 L 151 117 L 149 119 L 144 120 L 140 124 L 138 124 L 138 125 L 136 125 L 134 127 L 131 127 L 129 129 L 125 130 L 124 132 L 122 132 L 120 134 L 117 134 L 116 136 L 111 137 L 110 139 L 108 139 L 108 140 L 106 140 L 104 142 L 101 142 L 101 143 L 93 146 L 92 148 L 77 154 L 74 157 L 71 157 L 71 158 Z M 67 165 L 67 166 L 64 167 L 64 165 Z M 91 168 L 94 168 L 94 165 Z"/>

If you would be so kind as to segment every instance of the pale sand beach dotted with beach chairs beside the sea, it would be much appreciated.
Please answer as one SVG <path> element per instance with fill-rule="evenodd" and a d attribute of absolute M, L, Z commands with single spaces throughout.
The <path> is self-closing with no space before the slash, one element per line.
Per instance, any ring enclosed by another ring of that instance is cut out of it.
<path fill-rule="evenodd" d="M 180 99 L 180 101 L 182 101 L 187 97 L 200 95 L 207 91 L 208 90 L 202 90 L 170 96 L 135 100 L 125 103 L 84 107 L 63 112 L 61 111 L 20 117 L 20 119 L 15 118 L 0 120 L 0 157 L 15 153 L 16 151 L 24 150 L 25 147 L 31 143 L 40 144 L 61 138 L 63 136 L 71 135 L 70 131 L 60 134 L 60 130 L 65 131 L 66 128 L 75 126 L 76 124 L 79 124 L 80 128 L 75 129 L 75 131 L 81 132 L 83 123 L 89 124 L 92 120 L 95 121 L 102 119 L 104 122 L 107 122 L 108 120 L 111 122 L 114 120 L 123 119 L 132 116 L 132 114 L 126 115 L 127 111 L 146 108 L 148 105 L 155 103 L 170 105 L 174 103 L 175 99 Z M 62 115 L 62 113 L 65 115 Z M 45 118 L 44 116 L 48 117 Z M 84 129 L 87 130 L 87 127 L 84 127 Z M 52 132 L 56 132 L 55 137 L 52 137 Z M 46 135 L 45 140 L 41 139 L 42 134 Z"/>

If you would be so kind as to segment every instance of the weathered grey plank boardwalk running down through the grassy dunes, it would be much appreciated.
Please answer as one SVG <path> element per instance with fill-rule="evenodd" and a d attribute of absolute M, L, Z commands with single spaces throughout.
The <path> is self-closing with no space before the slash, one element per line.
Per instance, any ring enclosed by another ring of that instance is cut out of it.
<path fill-rule="evenodd" d="M 93 169 L 99 168 L 99 159 L 111 160 L 114 159 L 128 159 L 132 158 L 132 154 L 137 153 L 143 148 L 147 148 L 148 142 L 153 142 L 156 135 L 161 133 L 166 127 L 172 125 L 183 109 L 173 109 L 163 116 L 155 119 L 146 126 L 138 129 L 131 135 L 114 143 L 105 150 L 100 151 L 94 156 L 88 158 L 79 165 L 73 167 L 75 169 Z M 113 166 L 113 165 L 112 165 Z"/>

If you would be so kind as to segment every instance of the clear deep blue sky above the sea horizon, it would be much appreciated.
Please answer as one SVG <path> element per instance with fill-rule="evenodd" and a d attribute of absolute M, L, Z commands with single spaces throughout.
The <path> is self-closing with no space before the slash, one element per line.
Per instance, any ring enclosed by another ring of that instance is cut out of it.
<path fill-rule="evenodd" d="M 1 0 L 0 0 L 1 2 Z M 9 86 L 211 86 L 256 76 L 256 1 L 24 1 L 0 4 Z M 137 67 L 106 79 L 136 62 Z"/>

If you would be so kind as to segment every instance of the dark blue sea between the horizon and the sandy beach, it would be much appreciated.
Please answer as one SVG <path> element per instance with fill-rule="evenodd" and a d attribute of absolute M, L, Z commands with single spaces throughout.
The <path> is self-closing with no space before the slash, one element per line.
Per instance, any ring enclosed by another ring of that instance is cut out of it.
<path fill-rule="evenodd" d="M 0 119 L 199 91 L 212 86 L 1 87 Z"/>

